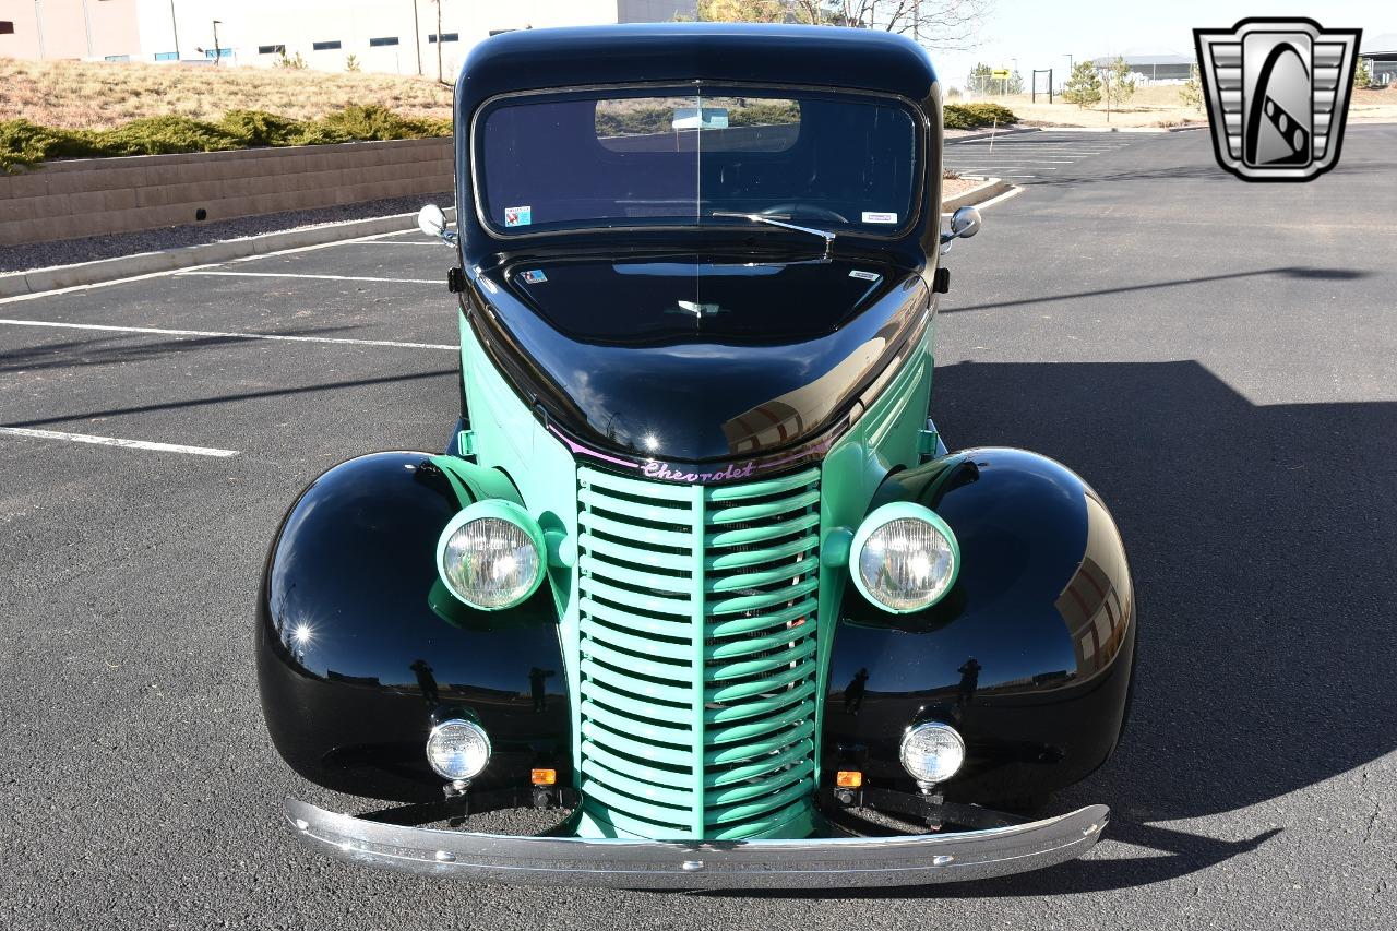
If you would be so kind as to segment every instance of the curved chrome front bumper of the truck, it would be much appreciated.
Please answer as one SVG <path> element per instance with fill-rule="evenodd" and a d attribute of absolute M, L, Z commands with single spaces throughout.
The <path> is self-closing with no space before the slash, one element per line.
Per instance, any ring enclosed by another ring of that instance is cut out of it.
<path fill-rule="evenodd" d="M 1003 876 L 1091 850 L 1111 809 L 1088 805 L 1011 828 L 812 840 L 590 840 L 401 828 L 295 800 L 286 819 L 319 853 L 481 882 L 624 889 L 897 886 Z"/>

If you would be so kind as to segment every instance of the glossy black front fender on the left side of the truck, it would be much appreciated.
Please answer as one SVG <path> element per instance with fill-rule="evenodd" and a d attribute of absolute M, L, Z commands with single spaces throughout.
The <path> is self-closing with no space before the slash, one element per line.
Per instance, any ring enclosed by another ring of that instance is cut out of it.
<path fill-rule="evenodd" d="M 570 772 L 550 587 L 476 611 L 436 572 L 437 537 L 467 499 L 513 486 L 440 461 L 400 452 L 335 466 L 291 506 L 267 556 L 256 636 L 267 730 L 292 769 L 327 788 L 440 800 L 425 746 L 433 714 L 451 712 L 474 716 L 493 745 L 472 786 L 528 786 L 545 760 L 560 780 Z"/>

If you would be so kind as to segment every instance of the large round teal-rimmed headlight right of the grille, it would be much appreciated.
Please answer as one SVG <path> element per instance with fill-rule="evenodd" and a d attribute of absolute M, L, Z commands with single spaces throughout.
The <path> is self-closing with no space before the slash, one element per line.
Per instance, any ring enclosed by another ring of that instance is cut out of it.
<path fill-rule="evenodd" d="M 851 554 L 854 586 L 895 614 L 936 604 L 960 572 L 956 534 L 936 513 L 908 502 L 869 514 L 854 534 Z"/>

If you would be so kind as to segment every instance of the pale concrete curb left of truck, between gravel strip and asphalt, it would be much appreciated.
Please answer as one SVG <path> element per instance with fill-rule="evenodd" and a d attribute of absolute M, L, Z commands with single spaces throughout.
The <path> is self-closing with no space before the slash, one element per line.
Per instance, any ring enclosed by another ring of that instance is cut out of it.
<path fill-rule="evenodd" d="M 455 208 L 446 211 L 447 219 L 455 219 Z M 300 226 L 298 229 L 282 229 L 278 232 L 261 233 L 258 236 L 244 236 L 242 239 L 225 239 L 222 242 L 208 242 L 198 246 L 183 246 L 180 249 L 162 249 L 159 252 L 142 252 L 136 256 L 120 256 L 117 259 L 101 259 L 98 261 L 84 261 L 75 266 L 53 266 L 49 268 L 34 268 L 31 271 L 10 271 L 0 274 L 0 298 L 15 298 L 27 294 L 43 294 L 60 288 L 78 288 L 82 285 L 102 284 L 119 278 L 134 278 L 137 275 L 159 274 L 162 271 L 177 271 L 193 266 L 208 266 L 249 256 L 264 256 L 272 252 L 288 249 L 302 249 L 305 246 L 320 246 L 341 239 L 360 239 L 363 236 L 379 236 L 390 232 L 404 232 L 412 229 L 416 214 L 394 214 L 391 217 L 372 217 L 369 219 L 349 219 L 339 224 L 326 224 L 323 226 Z"/>

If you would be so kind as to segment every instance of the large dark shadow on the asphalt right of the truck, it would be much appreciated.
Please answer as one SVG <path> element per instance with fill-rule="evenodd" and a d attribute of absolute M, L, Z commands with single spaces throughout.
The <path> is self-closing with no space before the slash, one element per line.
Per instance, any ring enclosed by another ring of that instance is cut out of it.
<path fill-rule="evenodd" d="M 1291 825 L 1252 812 L 1151 822 L 1236 812 L 1397 748 L 1397 403 L 1259 407 L 1192 361 L 967 362 L 936 377 L 937 428 L 953 449 L 1021 446 L 1071 466 L 1125 535 L 1140 619 L 1132 717 L 1116 755 L 1048 814 L 1109 804 L 1106 840 L 1151 853 L 1113 858 L 1111 843 L 999 879 L 807 895 L 1032 896 L 1166 881 Z"/>

